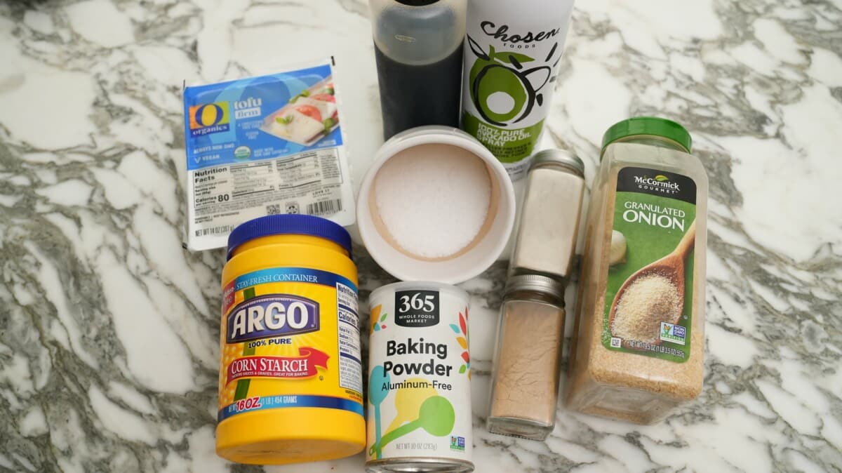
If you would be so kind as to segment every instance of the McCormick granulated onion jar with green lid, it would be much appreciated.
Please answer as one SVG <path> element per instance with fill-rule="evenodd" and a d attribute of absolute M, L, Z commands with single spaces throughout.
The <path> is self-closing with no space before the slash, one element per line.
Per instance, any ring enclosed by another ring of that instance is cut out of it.
<path fill-rule="evenodd" d="M 568 407 L 654 423 L 701 392 L 707 175 L 659 118 L 605 132 L 594 180 Z"/>

